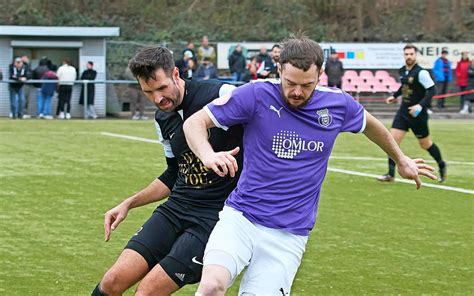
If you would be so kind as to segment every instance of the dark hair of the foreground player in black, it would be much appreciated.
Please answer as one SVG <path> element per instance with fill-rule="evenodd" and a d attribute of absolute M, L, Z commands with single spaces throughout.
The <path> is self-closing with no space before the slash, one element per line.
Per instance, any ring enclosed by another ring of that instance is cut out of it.
<path fill-rule="evenodd" d="M 174 69 L 173 54 L 164 47 L 148 47 L 137 53 L 128 63 L 135 78 L 145 81 L 156 79 L 155 72 L 162 69 L 171 76 Z"/>

